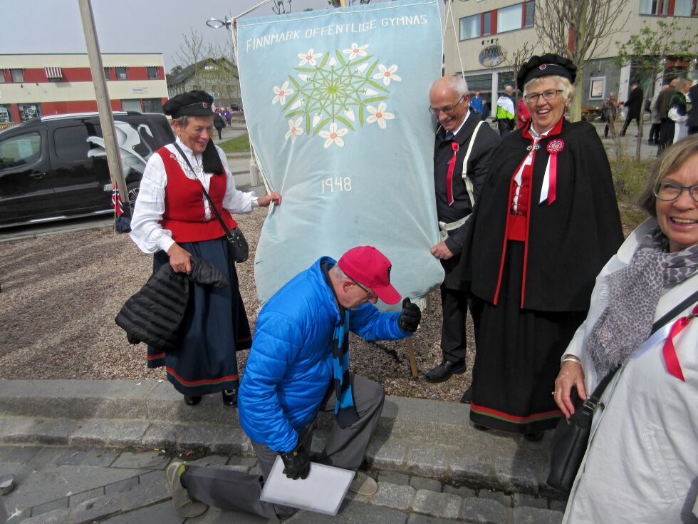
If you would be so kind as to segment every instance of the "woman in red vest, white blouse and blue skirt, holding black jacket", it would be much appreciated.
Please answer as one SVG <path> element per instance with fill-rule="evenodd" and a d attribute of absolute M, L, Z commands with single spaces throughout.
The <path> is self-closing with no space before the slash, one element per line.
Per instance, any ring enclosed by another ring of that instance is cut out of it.
<path fill-rule="evenodd" d="M 205 187 L 229 230 L 237 226 L 231 212 L 281 203 L 272 192 L 256 197 L 236 190 L 225 153 L 211 140 L 212 98 L 190 91 L 165 103 L 177 140 L 150 157 L 140 183 L 131 220 L 131 238 L 140 250 L 154 253 L 153 271 L 171 264 L 191 272 L 195 255 L 220 269 L 229 286 L 190 284 L 179 348 L 167 354 L 148 346 L 148 367 L 165 366 L 167 379 L 190 406 L 202 395 L 222 392 L 224 404 L 236 404 L 239 384 L 236 351 L 249 349 L 251 335 L 240 296 L 237 273 L 225 232 L 204 196 Z"/>

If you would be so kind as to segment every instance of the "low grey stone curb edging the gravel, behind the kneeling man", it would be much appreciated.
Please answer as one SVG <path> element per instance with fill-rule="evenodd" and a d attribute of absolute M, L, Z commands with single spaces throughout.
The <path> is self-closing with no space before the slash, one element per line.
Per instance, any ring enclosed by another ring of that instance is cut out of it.
<path fill-rule="evenodd" d="M 186 406 L 167 382 L 2 380 L 0 443 L 165 448 L 254 456 L 235 409 L 219 396 Z M 313 438 L 321 451 L 332 423 Z M 548 436 L 549 438 L 549 436 Z M 563 498 L 546 486 L 548 438 L 476 431 L 469 406 L 387 397 L 367 458 L 381 471 L 474 488 Z"/>

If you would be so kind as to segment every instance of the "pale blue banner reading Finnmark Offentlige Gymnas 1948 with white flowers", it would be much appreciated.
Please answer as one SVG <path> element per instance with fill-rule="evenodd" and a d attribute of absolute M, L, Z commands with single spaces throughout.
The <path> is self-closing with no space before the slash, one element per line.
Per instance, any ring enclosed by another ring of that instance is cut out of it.
<path fill-rule="evenodd" d="M 374 245 L 403 297 L 443 279 L 429 86 L 441 76 L 435 0 L 238 21 L 245 116 L 283 202 L 254 261 L 264 303 L 318 257 Z M 385 304 L 382 304 L 385 307 Z"/>

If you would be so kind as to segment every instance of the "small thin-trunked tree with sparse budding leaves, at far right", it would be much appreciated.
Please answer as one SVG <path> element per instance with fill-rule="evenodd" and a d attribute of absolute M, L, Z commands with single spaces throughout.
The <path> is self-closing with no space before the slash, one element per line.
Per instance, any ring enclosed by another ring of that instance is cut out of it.
<path fill-rule="evenodd" d="M 631 64 L 632 71 L 640 81 L 649 81 L 650 84 L 662 78 L 665 73 L 665 61 L 667 57 L 674 61 L 692 61 L 697 57 L 698 34 L 695 26 L 681 24 L 679 19 L 671 22 L 657 20 L 657 28 L 654 29 L 645 22 L 639 34 L 633 34 L 627 41 L 618 45 L 618 56 L 615 61 L 619 66 Z M 650 90 L 645 89 L 642 97 L 642 111 L 640 111 L 640 129 L 645 120 L 645 103 Z M 635 157 L 640 160 L 640 145 L 642 133 L 637 133 Z"/>

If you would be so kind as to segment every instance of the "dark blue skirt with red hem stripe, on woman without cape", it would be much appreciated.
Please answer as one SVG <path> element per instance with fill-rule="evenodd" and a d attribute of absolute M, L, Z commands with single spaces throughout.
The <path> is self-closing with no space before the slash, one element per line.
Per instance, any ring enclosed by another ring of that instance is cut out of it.
<path fill-rule="evenodd" d="M 204 242 L 182 242 L 185 250 L 208 260 L 229 279 L 223 289 L 189 284 L 189 303 L 184 314 L 179 348 L 167 354 L 148 346 L 148 367 L 165 366 L 167 379 L 187 396 L 237 389 L 236 351 L 249 349 L 252 337 L 237 272 L 225 237 Z M 169 264 L 167 253 L 153 257 L 153 272 Z"/>

